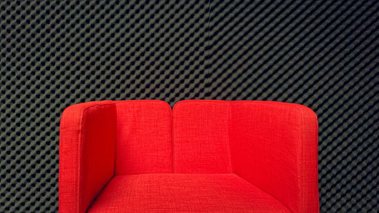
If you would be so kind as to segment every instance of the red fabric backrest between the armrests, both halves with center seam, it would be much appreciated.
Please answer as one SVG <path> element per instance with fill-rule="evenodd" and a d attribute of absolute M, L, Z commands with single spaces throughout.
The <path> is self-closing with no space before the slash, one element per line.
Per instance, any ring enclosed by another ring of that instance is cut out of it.
<path fill-rule="evenodd" d="M 115 175 L 231 173 L 228 101 L 116 101 Z"/>

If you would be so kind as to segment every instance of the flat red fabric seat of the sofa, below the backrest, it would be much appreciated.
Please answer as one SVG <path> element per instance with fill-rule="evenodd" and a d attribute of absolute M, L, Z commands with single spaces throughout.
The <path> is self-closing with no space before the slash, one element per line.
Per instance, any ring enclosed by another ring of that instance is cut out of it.
<path fill-rule="evenodd" d="M 114 176 L 88 212 L 290 212 L 236 174 Z"/>

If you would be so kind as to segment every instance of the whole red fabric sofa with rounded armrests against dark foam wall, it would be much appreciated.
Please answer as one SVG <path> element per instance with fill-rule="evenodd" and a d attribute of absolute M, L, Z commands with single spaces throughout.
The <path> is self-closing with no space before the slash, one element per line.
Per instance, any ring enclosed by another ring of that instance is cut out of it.
<path fill-rule="evenodd" d="M 59 212 L 318 212 L 318 123 L 274 101 L 67 108 Z"/>

